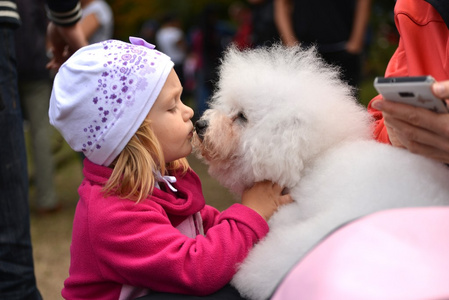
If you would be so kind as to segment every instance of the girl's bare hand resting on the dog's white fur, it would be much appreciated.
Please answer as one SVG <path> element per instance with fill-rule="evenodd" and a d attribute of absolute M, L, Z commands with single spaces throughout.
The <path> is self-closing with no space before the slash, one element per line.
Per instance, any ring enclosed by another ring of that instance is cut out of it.
<path fill-rule="evenodd" d="M 278 210 L 281 205 L 291 203 L 290 194 L 283 194 L 283 188 L 271 181 L 255 183 L 245 190 L 242 195 L 242 204 L 260 214 L 266 221 Z"/>

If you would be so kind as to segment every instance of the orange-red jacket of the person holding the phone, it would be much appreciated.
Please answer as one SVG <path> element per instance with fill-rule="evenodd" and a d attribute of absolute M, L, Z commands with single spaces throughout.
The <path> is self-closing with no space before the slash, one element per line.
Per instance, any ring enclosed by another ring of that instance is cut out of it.
<path fill-rule="evenodd" d="M 400 34 L 399 46 L 385 71 L 385 77 L 432 75 L 437 81 L 449 79 L 449 30 L 440 14 L 424 0 L 398 0 L 394 8 Z M 371 107 L 376 119 L 375 137 L 390 143 L 382 113 Z"/>

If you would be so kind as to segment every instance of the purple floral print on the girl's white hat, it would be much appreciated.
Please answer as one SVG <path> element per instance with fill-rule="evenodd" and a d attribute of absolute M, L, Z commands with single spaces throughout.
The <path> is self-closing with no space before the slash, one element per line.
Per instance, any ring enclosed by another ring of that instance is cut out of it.
<path fill-rule="evenodd" d="M 101 149 L 102 136 L 113 126 L 126 111 L 133 106 L 136 91 L 148 88 L 147 76 L 156 71 L 155 64 L 161 55 L 156 50 L 145 51 L 144 48 L 119 41 L 108 40 L 102 43 L 103 51 L 89 53 L 92 59 L 105 61 L 103 69 L 96 80 L 96 90 L 92 93 L 90 105 L 95 106 L 97 117 L 83 128 L 85 141 L 82 151 Z"/>

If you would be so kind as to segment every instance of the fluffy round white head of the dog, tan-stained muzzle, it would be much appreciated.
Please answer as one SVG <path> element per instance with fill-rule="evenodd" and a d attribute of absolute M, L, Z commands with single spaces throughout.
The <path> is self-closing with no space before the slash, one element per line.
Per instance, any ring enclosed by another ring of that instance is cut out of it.
<path fill-rule="evenodd" d="M 209 173 L 237 194 L 265 179 L 291 188 L 330 147 L 370 138 L 370 121 L 314 49 L 230 48 L 194 146 Z"/>

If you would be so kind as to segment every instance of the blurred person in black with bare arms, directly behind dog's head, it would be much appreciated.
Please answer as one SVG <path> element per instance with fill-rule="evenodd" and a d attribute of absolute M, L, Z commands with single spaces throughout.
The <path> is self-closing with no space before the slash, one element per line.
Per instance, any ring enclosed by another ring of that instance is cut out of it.
<path fill-rule="evenodd" d="M 358 88 L 371 0 L 275 0 L 274 10 L 285 45 L 315 45 L 327 63 L 341 68 L 343 80 Z"/>

